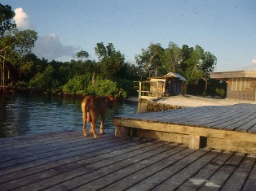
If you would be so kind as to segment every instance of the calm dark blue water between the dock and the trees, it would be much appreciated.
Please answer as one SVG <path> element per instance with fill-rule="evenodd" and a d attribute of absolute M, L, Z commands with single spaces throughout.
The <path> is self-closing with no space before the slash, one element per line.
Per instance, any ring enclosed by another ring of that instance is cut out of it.
<path fill-rule="evenodd" d="M 82 131 L 82 99 L 42 95 L 0 95 L 0 137 L 13 137 L 40 132 Z M 138 102 L 124 102 L 108 109 L 104 128 L 113 129 L 113 116 L 143 112 Z M 100 117 L 97 122 L 99 132 Z M 87 128 L 89 124 L 87 124 Z"/>

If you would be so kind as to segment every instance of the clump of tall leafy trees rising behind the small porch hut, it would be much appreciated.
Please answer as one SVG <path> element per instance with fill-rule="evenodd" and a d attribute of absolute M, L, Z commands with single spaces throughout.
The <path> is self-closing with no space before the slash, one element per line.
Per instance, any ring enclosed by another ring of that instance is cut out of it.
<path fill-rule="evenodd" d="M 197 84 L 199 80 L 205 80 L 205 90 L 213 72 L 217 59 L 214 54 L 203 50 L 201 46 L 194 48 L 170 41 L 164 49 L 159 43 L 151 43 L 147 49 L 135 56 L 141 76 L 162 76 L 167 72 L 177 72 L 188 80 L 188 86 Z M 204 91 L 205 93 L 205 91 Z"/>

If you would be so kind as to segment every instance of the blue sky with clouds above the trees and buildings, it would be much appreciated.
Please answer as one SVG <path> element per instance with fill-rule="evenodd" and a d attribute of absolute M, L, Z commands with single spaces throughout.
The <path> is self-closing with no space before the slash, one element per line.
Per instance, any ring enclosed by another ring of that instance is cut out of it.
<path fill-rule="evenodd" d="M 201 46 L 216 71 L 256 66 L 256 0 L 3 0 L 20 29 L 38 32 L 38 58 L 69 61 L 79 50 L 97 59 L 97 42 L 112 42 L 135 63 L 151 42 Z M 22 8 L 22 9 L 18 9 Z"/>

